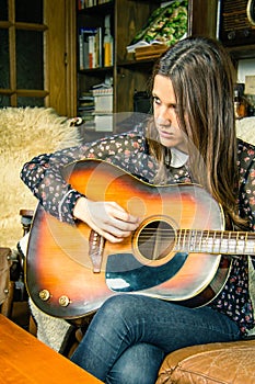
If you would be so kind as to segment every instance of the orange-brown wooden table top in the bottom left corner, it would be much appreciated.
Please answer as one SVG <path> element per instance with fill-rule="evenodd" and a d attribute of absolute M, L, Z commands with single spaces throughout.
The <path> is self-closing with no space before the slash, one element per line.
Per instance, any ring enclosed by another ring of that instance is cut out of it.
<path fill-rule="evenodd" d="M 0 383 L 100 384 L 102 382 L 0 315 Z"/>

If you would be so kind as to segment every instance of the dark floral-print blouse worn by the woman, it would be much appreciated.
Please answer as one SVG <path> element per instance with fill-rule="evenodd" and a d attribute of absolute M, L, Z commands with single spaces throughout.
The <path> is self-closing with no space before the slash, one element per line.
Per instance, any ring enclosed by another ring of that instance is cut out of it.
<path fill-rule="evenodd" d="M 240 170 L 240 214 L 247 217 L 251 231 L 255 231 L 255 147 L 237 139 Z M 73 207 L 81 196 L 68 184 L 61 169 L 77 160 L 95 158 L 119 166 L 127 172 L 153 183 L 157 162 L 148 153 L 143 128 L 113 135 L 79 147 L 66 148 L 55 154 L 35 157 L 25 163 L 21 178 L 39 200 L 44 208 L 60 221 L 73 224 Z M 190 182 L 185 165 L 169 168 L 167 183 Z M 254 327 L 252 301 L 248 294 L 248 259 L 233 258 L 230 275 L 224 287 L 208 304 L 227 314 L 239 325 L 241 332 Z"/>

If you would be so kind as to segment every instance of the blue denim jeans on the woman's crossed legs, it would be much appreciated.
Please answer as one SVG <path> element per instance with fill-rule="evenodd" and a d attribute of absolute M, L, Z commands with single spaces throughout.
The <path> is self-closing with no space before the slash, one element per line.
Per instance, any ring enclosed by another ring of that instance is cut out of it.
<path fill-rule="evenodd" d="M 104 383 L 153 384 L 166 353 L 237 339 L 236 324 L 210 307 L 121 294 L 98 309 L 71 360 Z"/>

